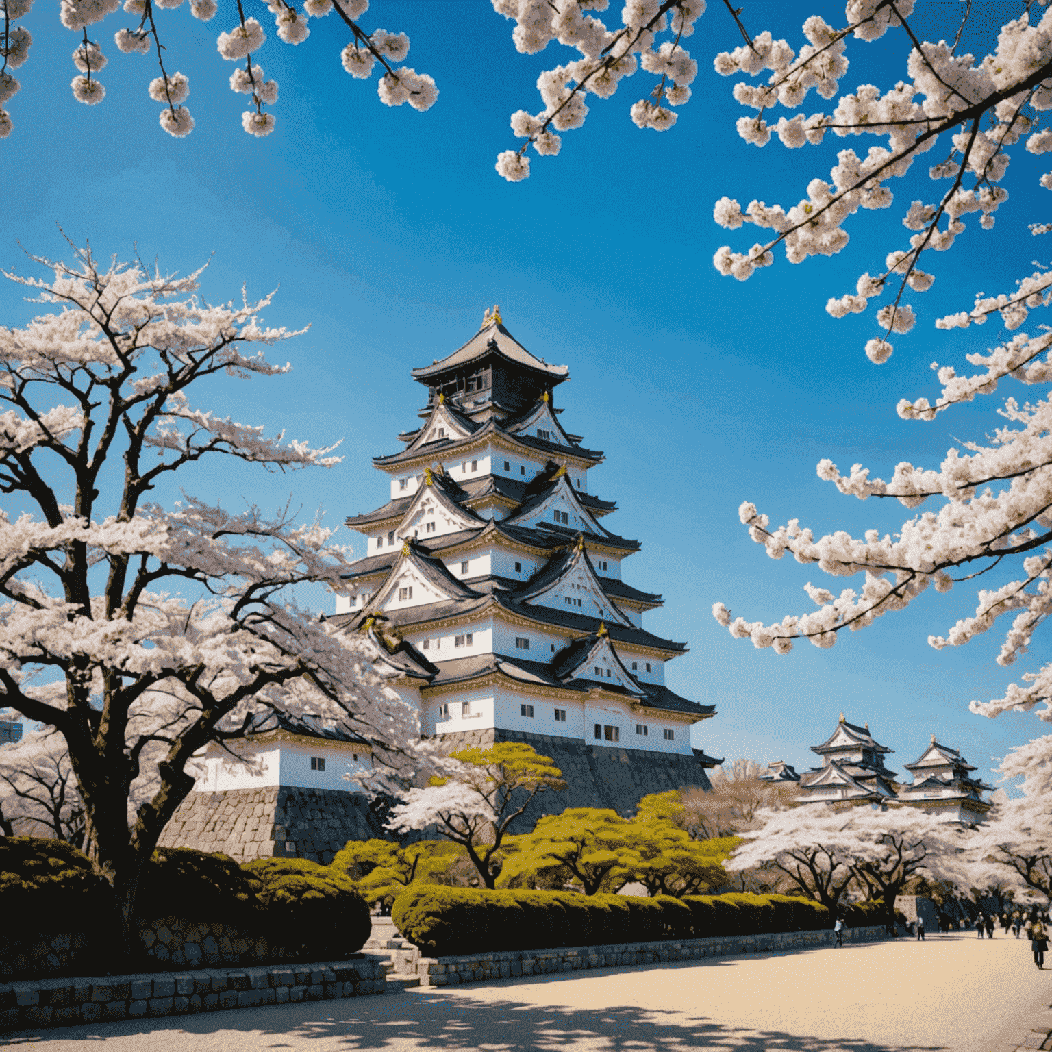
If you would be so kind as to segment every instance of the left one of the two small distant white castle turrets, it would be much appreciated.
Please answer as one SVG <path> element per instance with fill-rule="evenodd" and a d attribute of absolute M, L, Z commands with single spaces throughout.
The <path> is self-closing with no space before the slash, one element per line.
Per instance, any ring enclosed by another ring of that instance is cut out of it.
<path fill-rule="evenodd" d="M 801 775 L 803 803 L 879 804 L 895 798 L 895 772 L 884 766 L 892 750 L 873 739 L 868 723 L 856 727 L 842 712 L 836 730 L 822 745 L 812 745 L 811 751 L 824 763 Z"/>

